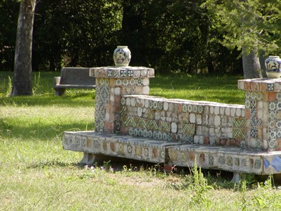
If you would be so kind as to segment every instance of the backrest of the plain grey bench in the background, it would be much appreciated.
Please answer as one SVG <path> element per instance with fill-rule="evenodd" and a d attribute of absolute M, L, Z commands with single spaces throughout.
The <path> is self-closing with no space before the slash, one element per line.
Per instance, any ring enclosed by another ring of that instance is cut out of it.
<path fill-rule="evenodd" d="M 89 68 L 63 67 L 60 84 L 95 85 L 95 78 L 89 76 Z"/>

